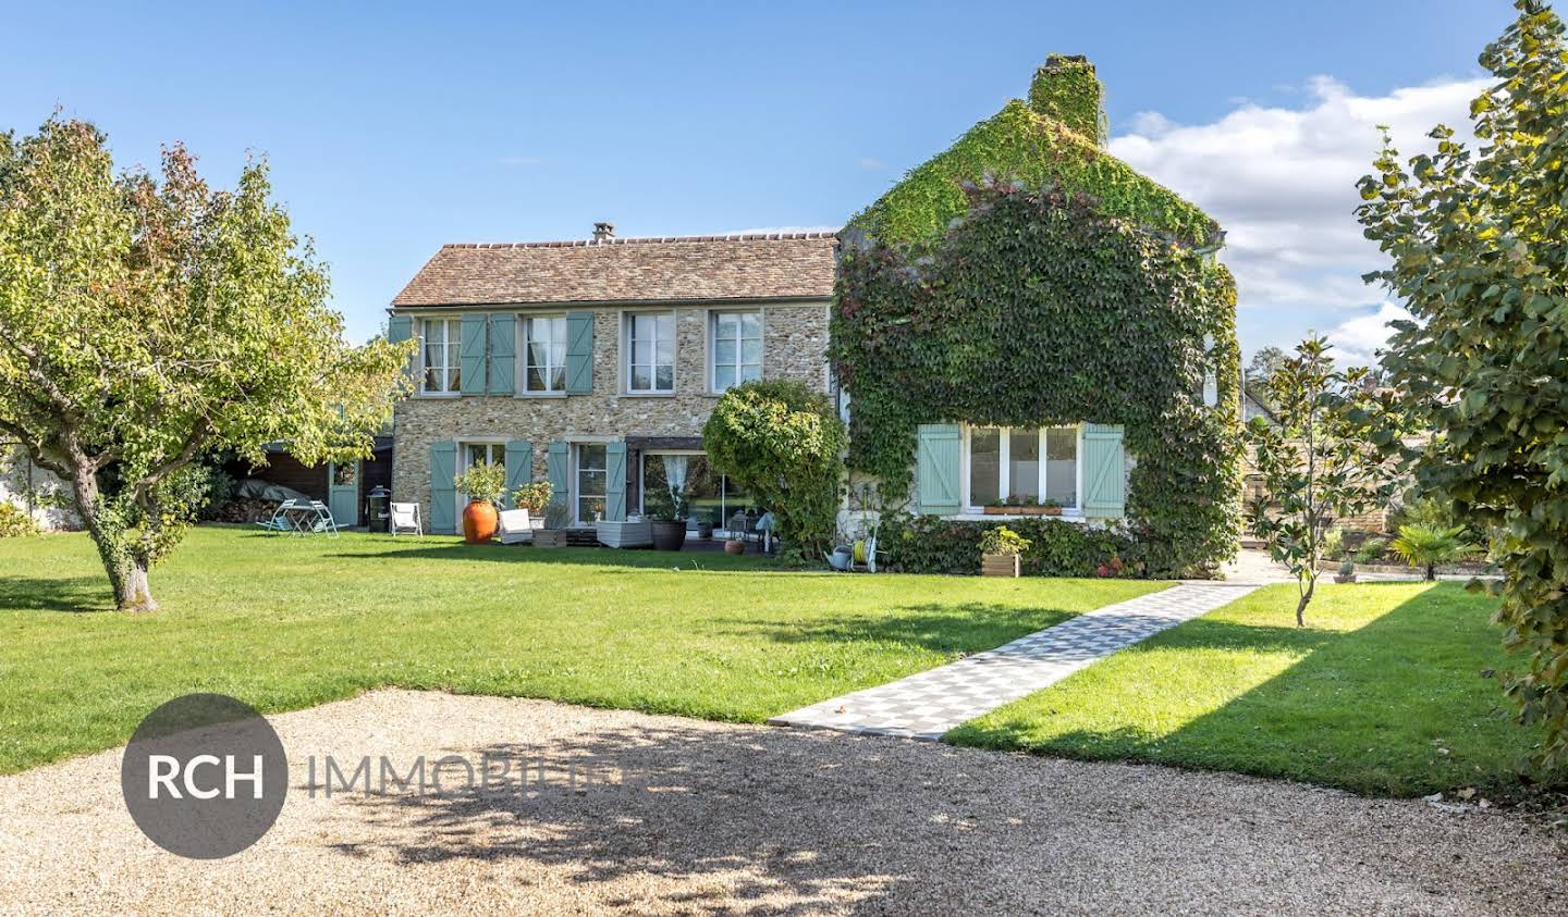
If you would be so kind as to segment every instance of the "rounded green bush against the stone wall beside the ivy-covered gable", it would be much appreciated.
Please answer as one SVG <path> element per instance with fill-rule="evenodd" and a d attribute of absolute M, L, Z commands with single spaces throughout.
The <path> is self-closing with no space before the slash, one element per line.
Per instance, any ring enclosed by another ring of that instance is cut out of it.
<path fill-rule="evenodd" d="M 803 558 L 833 547 L 847 444 L 833 404 L 786 379 L 724 392 L 702 428 L 713 467 L 773 511 L 779 538 Z"/>

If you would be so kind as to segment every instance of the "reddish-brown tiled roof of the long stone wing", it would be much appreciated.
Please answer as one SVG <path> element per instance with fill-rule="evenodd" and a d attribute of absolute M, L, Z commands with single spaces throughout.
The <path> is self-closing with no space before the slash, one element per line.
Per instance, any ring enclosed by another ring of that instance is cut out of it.
<path fill-rule="evenodd" d="M 814 299 L 831 232 L 444 245 L 394 306 Z"/>

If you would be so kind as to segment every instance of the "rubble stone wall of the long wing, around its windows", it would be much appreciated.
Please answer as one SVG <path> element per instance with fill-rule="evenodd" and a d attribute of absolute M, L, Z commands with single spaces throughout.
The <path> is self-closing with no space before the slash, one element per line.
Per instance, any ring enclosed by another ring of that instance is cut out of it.
<path fill-rule="evenodd" d="M 394 415 L 392 498 L 417 500 L 420 514 L 430 519 L 430 444 L 437 440 L 527 440 L 533 444 L 533 477 L 544 478 L 552 440 L 702 436 L 702 425 L 718 401 L 718 395 L 709 390 L 709 307 L 676 309 L 673 395 L 624 393 L 621 317 L 627 310 L 604 307 L 594 312 L 591 395 L 414 395 L 398 404 Z M 767 304 L 760 312 L 762 376 L 800 379 L 826 393 L 826 301 Z M 521 362 L 522 356 L 517 359 Z M 633 466 L 629 466 L 627 475 L 635 477 Z"/>

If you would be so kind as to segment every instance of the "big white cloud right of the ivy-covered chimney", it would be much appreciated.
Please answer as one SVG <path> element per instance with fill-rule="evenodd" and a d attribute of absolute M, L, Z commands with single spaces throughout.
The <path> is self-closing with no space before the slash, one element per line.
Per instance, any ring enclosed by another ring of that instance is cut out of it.
<path fill-rule="evenodd" d="M 1469 100 L 1485 86 L 1446 80 L 1356 96 L 1317 77 L 1300 108 L 1243 102 L 1212 124 L 1192 125 L 1142 113 L 1129 133 L 1110 141 L 1110 152 L 1220 221 L 1221 259 L 1236 273 L 1242 307 L 1267 312 L 1267 328 L 1279 335 L 1243 345 L 1287 345 L 1300 340 L 1311 312 L 1366 312 L 1383 296 L 1361 282 L 1383 256 L 1355 218 L 1355 183 L 1372 171 L 1378 125 L 1389 127 L 1405 157 L 1425 149 L 1427 132 L 1439 122 L 1469 140 Z M 1389 307 L 1348 318 L 1334 334 L 1344 334 L 1347 351 L 1353 342 L 1369 356 L 1383 340 L 1375 320 Z"/>

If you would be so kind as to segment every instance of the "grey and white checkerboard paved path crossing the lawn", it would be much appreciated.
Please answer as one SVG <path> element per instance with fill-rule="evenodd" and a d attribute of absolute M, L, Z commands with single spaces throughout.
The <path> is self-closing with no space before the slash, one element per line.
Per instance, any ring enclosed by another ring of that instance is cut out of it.
<path fill-rule="evenodd" d="M 768 723 L 935 741 L 960 723 L 1060 682 L 1256 588 L 1254 583 L 1182 583 L 1096 608 L 946 666 L 801 707 Z"/>

